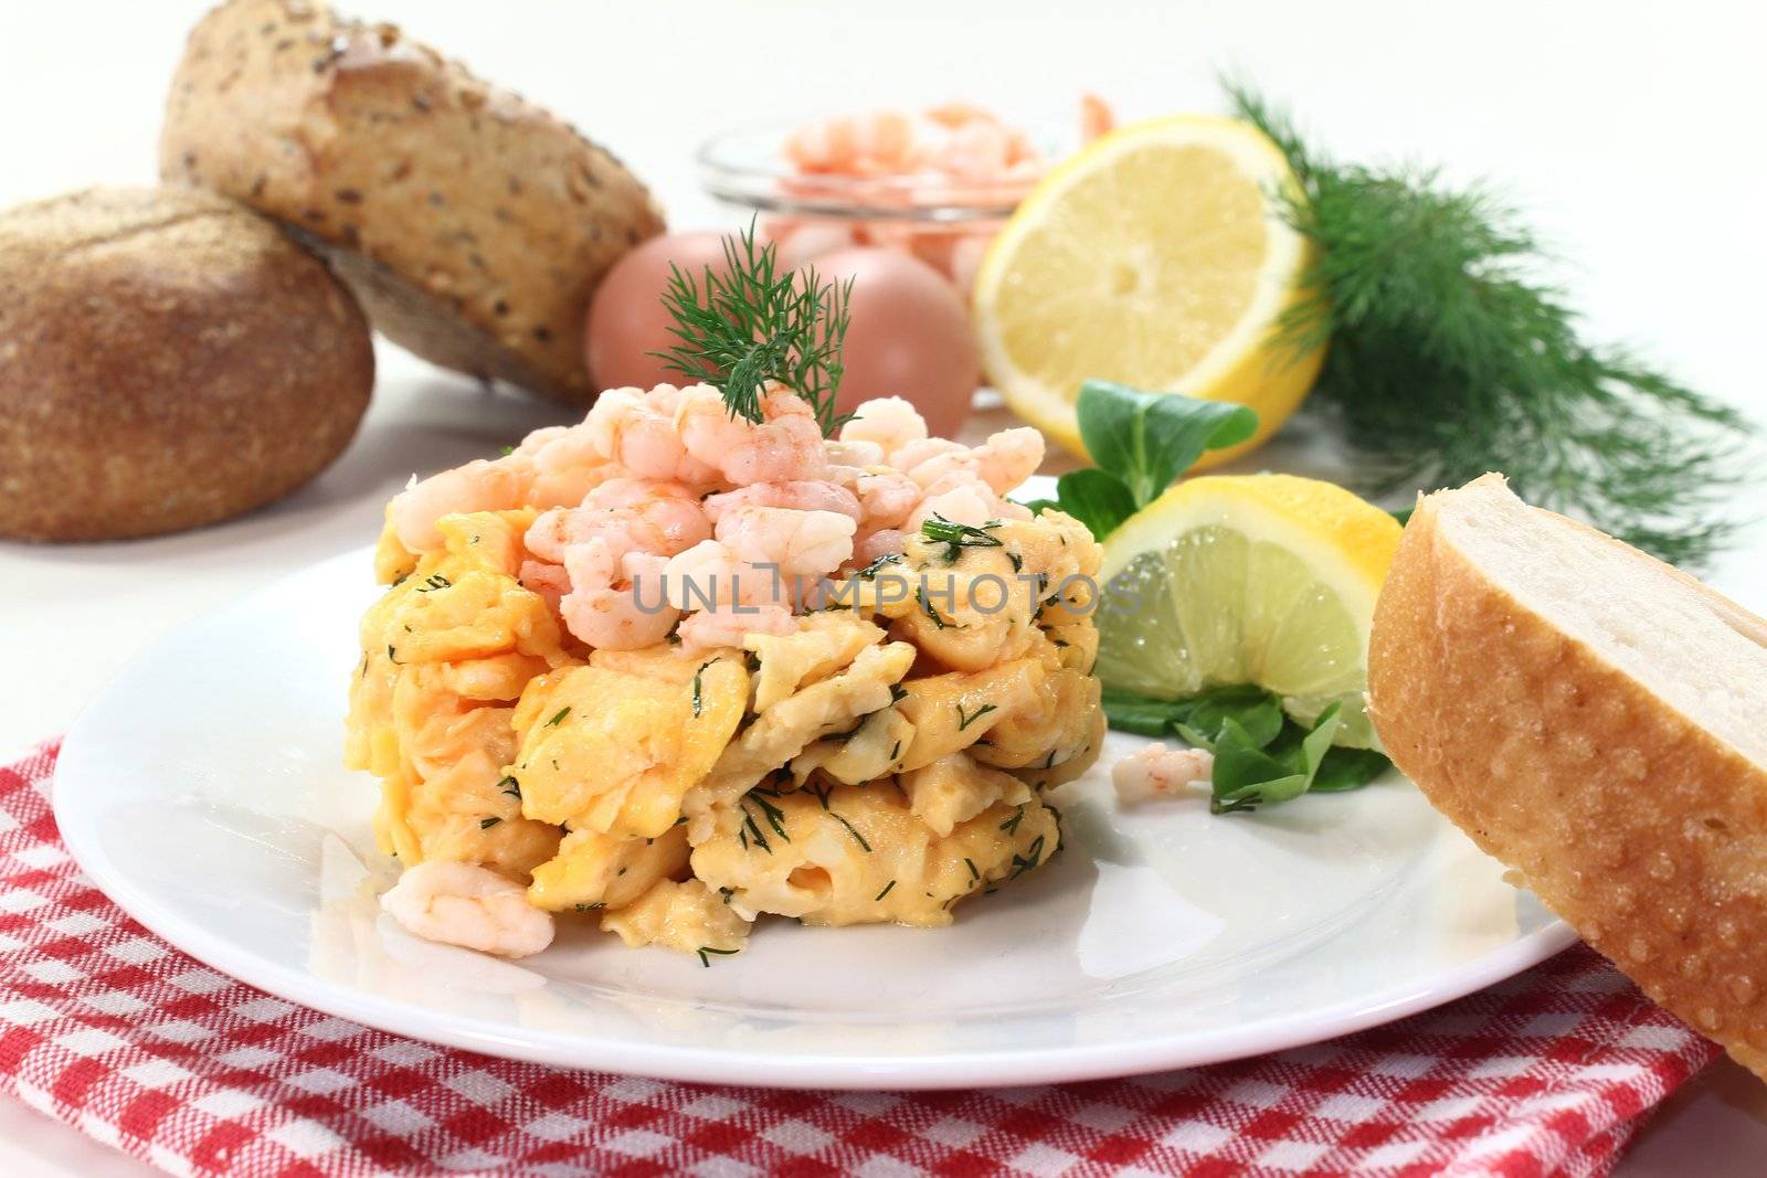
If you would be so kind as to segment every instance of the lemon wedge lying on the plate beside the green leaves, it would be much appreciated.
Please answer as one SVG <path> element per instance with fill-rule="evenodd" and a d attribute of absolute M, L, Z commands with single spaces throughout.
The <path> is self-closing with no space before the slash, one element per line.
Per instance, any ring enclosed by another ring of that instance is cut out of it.
<path fill-rule="evenodd" d="M 1399 532 L 1331 482 L 1187 479 L 1104 540 L 1097 675 L 1163 699 L 1258 683 L 1304 724 L 1341 703 L 1336 744 L 1376 747 L 1368 629 Z"/>

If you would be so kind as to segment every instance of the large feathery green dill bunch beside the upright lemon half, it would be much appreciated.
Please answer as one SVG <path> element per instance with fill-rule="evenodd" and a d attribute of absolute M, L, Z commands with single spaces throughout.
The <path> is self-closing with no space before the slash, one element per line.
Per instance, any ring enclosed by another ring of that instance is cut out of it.
<path fill-rule="evenodd" d="M 1283 332 L 1297 350 L 1329 339 L 1313 404 L 1357 456 L 1362 491 L 1498 470 L 1527 502 L 1672 563 L 1723 547 L 1737 521 L 1716 509 L 1742 477 L 1742 415 L 1587 341 L 1564 291 L 1536 277 L 1539 238 L 1490 187 L 1336 162 L 1246 85 L 1225 88 L 1301 182 L 1285 215 L 1318 254 Z"/>

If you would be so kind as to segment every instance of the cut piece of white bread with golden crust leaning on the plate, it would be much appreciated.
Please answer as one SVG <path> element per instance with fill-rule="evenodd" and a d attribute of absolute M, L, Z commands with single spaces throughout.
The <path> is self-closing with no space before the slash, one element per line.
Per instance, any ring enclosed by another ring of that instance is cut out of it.
<path fill-rule="evenodd" d="M 1767 622 L 1486 475 L 1419 502 L 1368 671 L 1431 804 L 1767 1077 Z"/>

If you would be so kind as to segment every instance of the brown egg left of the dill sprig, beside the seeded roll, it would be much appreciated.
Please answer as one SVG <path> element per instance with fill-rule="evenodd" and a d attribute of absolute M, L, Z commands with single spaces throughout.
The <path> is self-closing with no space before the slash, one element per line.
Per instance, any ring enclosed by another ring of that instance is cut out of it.
<path fill-rule="evenodd" d="M 597 389 L 650 389 L 682 383 L 680 373 L 650 355 L 677 343 L 663 307 L 670 263 L 701 283 L 705 267 L 724 272 L 721 233 L 664 233 L 618 260 L 588 304 L 583 359 Z"/>

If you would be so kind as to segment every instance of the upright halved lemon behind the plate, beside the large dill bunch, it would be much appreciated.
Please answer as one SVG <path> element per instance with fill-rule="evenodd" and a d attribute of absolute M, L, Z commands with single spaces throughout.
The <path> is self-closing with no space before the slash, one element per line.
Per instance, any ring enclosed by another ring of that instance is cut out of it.
<path fill-rule="evenodd" d="M 1081 456 L 1088 378 L 1255 408 L 1258 433 L 1202 466 L 1258 445 L 1323 360 L 1274 341 L 1309 258 L 1276 207 L 1295 191 L 1281 150 L 1233 118 L 1159 118 L 1092 143 L 1025 198 L 977 274 L 990 383 Z"/>

